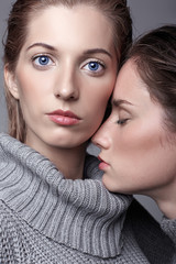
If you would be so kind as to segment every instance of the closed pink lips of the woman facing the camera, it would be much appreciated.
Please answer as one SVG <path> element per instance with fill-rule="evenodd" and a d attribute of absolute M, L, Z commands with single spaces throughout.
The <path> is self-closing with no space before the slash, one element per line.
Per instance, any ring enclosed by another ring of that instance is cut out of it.
<path fill-rule="evenodd" d="M 50 119 L 59 125 L 74 125 L 80 121 L 75 113 L 70 111 L 56 110 L 48 113 Z"/>

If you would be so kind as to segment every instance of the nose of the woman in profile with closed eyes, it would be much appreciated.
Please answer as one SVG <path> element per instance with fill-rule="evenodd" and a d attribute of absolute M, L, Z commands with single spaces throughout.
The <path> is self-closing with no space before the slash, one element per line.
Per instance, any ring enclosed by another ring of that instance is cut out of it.
<path fill-rule="evenodd" d="M 100 127 L 91 141 L 100 150 L 108 150 L 110 147 L 110 138 L 108 136 L 108 120 Z"/>

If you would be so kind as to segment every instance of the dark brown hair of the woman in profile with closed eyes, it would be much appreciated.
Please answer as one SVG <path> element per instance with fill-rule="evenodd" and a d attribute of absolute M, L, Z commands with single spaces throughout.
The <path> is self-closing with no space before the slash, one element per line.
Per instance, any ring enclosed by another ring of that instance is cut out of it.
<path fill-rule="evenodd" d="M 165 110 L 165 124 L 176 131 L 176 25 L 143 35 L 129 51 L 151 98 Z"/>

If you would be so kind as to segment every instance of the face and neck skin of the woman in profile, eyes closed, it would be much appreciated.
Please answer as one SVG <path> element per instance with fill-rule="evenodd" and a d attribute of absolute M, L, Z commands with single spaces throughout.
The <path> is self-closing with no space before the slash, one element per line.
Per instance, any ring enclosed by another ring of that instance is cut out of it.
<path fill-rule="evenodd" d="M 176 136 L 164 123 L 162 106 L 151 99 L 133 61 L 118 75 L 112 113 L 94 136 L 100 152 L 103 184 L 116 193 L 155 199 L 176 218 Z"/>

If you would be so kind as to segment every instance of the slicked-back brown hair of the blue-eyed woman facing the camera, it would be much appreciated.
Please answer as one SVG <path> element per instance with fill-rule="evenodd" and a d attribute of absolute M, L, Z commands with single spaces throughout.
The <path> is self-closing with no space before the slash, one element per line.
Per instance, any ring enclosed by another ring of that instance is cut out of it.
<path fill-rule="evenodd" d="M 8 20 L 8 34 L 4 43 L 4 65 L 10 72 L 15 70 L 18 58 L 24 45 L 28 24 L 32 16 L 50 6 L 63 4 L 72 8 L 76 4 L 96 7 L 105 13 L 113 26 L 114 47 L 119 64 L 127 53 L 132 41 L 132 21 L 127 0 L 16 0 Z M 22 117 L 20 103 L 6 87 L 7 106 L 9 112 L 9 133 L 18 140 L 25 140 L 25 122 Z"/>

